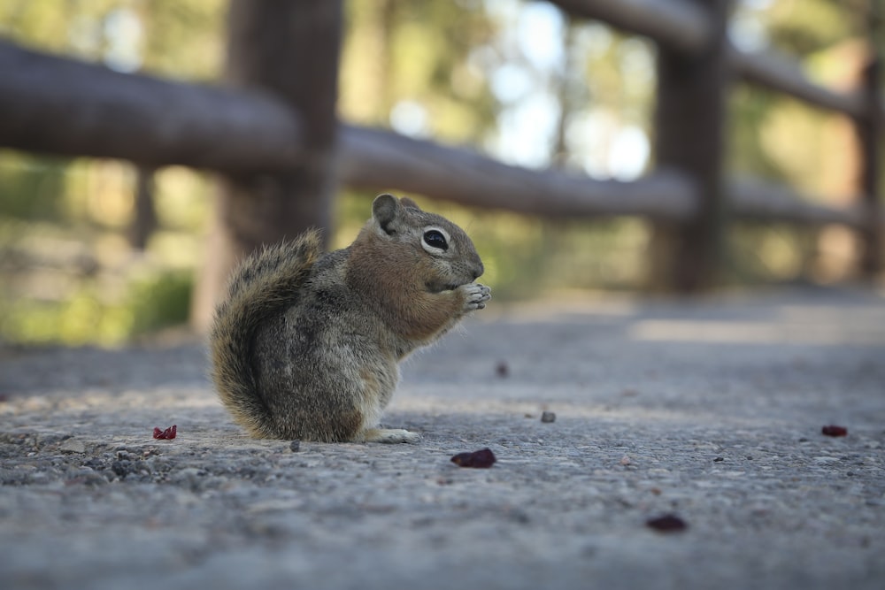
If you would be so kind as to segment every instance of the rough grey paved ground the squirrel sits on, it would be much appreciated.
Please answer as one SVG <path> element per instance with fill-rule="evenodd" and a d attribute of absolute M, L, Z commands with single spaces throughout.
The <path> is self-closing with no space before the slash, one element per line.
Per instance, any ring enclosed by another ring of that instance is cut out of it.
<path fill-rule="evenodd" d="M 885 587 L 881 295 L 498 308 L 404 366 L 417 445 L 247 439 L 193 343 L 0 349 L 4 588 Z"/>

